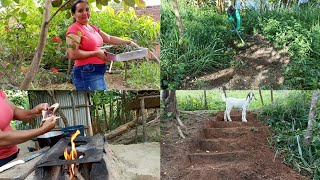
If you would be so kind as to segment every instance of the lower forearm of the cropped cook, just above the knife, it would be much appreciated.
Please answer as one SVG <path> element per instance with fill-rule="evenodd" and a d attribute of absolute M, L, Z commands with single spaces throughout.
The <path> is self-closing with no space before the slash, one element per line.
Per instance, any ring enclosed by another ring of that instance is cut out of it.
<path fill-rule="evenodd" d="M 43 125 L 38 129 L 30 130 L 0 130 L 0 146 L 9 146 L 26 142 L 34 137 L 44 134 L 55 127 L 58 117 L 51 116 L 46 119 Z"/>

